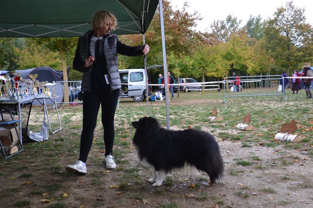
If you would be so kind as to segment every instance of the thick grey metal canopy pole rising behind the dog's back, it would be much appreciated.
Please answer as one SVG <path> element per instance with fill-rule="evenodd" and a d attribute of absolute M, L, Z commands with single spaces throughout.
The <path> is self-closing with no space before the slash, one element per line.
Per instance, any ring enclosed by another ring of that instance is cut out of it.
<path fill-rule="evenodd" d="M 165 35 L 164 35 L 164 22 L 163 22 L 163 5 L 162 0 L 159 0 L 159 12 L 160 12 L 160 23 L 161 23 L 161 38 L 162 38 L 162 53 L 163 53 L 163 69 L 164 69 L 164 91 L 166 100 L 166 123 L 167 129 L 170 129 L 170 118 L 168 110 L 168 75 L 167 75 L 167 63 L 166 63 L 166 51 L 165 51 Z"/>

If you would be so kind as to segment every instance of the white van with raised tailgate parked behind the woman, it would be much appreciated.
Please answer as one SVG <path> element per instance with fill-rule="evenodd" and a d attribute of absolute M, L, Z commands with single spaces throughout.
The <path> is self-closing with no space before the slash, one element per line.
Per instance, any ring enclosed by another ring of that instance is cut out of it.
<path fill-rule="evenodd" d="M 163 66 L 154 65 L 151 67 L 147 67 L 147 70 L 152 68 L 163 68 Z M 122 83 L 119 98 L 131 97 L 135 102 L 144 101 L 147 97 L 145 69 L 121 69 L 119 70 L 119 72 Z M 148 83 L 151 83 L 149 80 L 149 73 L 148 73 Z M 151 95 L 152 91 L 150 86 L 148 88 L 148 96 Z"/>

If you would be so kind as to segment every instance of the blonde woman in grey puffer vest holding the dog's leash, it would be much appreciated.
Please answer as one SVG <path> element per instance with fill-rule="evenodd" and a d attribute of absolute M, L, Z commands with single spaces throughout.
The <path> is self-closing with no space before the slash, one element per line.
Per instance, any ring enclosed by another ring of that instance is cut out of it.
<path fill-rule="evenodd" d="M 106 168 L 116 164 L 112 157 L 114 141 L 114 115 L 120 95 L 121 80 L 117 67 L 117 53 L 127 56 L 146 55 L 148 45 L 126 46 L 110 31 L 116 27 L 117 20 L 110 12 L 99 10 L 92 20 L 92 29 L 78 40 L 73 68 L 83 72 L 83 131 L 80 137 L 80 156 L 65 170 L 75 174 L 86 174 L 86 161 L 90 151 L 94 129 L 101 104 L 101 122 L 104 129 Z"/>

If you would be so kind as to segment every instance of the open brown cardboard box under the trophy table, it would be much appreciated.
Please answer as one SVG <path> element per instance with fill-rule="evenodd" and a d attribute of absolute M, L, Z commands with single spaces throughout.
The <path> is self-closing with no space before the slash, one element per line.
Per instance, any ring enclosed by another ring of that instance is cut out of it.
<path fill-rule="evenodd" d="M 3 146 L 15 145 L 19 142 L 16 134 L 14 123 L 4 126 L 5 129 L 0 130 L 0 140 Z M 16 126 L 19 132 L 19 126 Z"/>

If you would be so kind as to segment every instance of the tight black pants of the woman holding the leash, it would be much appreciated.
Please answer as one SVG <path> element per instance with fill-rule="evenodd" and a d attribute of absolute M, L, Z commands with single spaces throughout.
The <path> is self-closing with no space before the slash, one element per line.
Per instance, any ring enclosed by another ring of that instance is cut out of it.
<path fill-rule="evenodd" d="M 98 82 L 91 92 L 83 96 L 83 131 L 80 137 L 79 160 L 86 162 L 90 151 L 94 130 L 97 124 L 98 111 L 101 104 L 101 122 L 104 129 L 105 156 L 112 155 L 114 141 L 114 115 L 120 90 L 110 91 L 109 85 Z"/>

